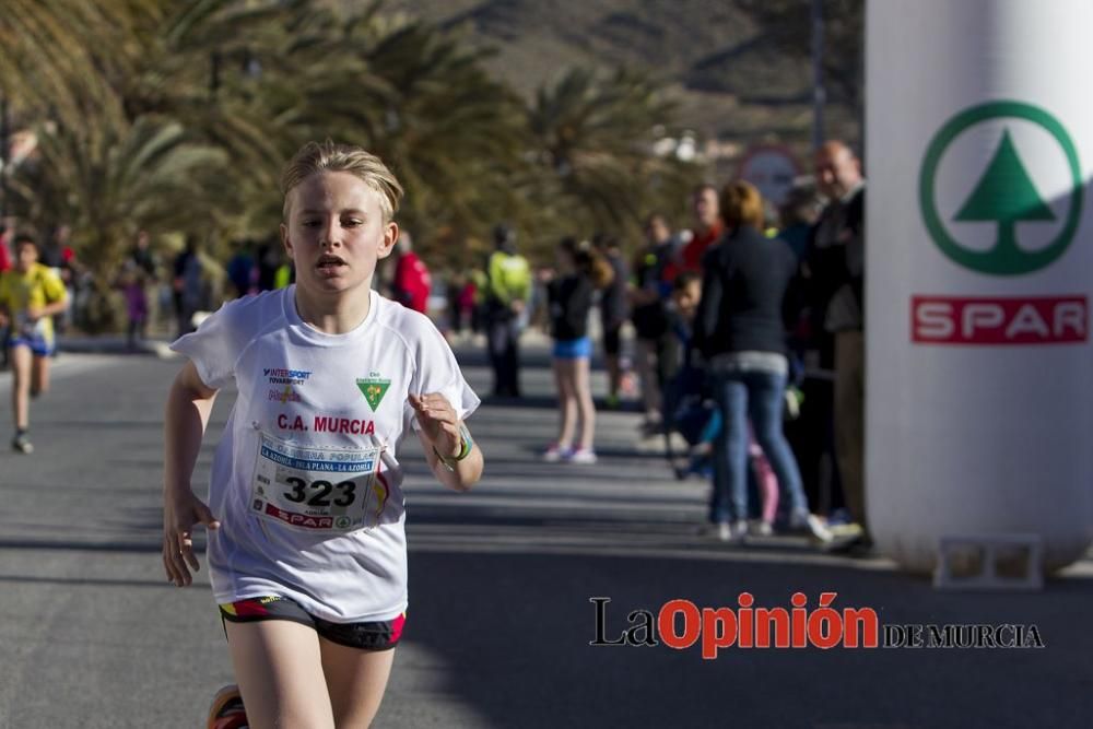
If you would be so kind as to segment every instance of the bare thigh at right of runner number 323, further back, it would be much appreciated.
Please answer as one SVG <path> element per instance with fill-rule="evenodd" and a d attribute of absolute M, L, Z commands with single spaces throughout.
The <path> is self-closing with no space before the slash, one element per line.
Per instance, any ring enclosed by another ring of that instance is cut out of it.
<path fill-rule="evenodd" d="M 379 710 L 395 650 L 361 650 L 319 638 L 322 672 L 327 677 L 334 726 L 364 729 Z"/>

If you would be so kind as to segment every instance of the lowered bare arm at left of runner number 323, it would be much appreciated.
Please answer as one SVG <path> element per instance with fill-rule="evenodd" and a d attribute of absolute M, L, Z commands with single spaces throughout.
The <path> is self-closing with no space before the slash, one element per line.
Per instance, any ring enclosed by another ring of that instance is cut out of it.
<path fill-rule="evenodd" d="M 187 362 L 171 386 L 164 419 L 163 566 L 167 579 L 178 587 L 192 581 L 195 525 L 216 529 L 220 522 L 193 494 L 190 478 L 201 449 L 201 438 L 216 399 L 216 390 L 201 381 L 192 362 Z"/>

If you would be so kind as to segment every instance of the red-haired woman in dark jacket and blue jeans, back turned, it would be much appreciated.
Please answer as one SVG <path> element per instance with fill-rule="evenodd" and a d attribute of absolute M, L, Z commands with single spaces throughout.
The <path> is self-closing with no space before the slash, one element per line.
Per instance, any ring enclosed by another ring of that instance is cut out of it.
<path fill-rule="evenodd" d="M 763 198 L 752 185 L 729 183 L 720 195 L 725 235 L 703 259 L 702 301 L 694 345 L 702 353 L 724 426 L 714 444 L 709 520 L 725 541 L 748 528 L 748 424 L 789 503 L 789 526 L 827 540 L 809 513 L 797 459 L 781 430 L 788 376 L 781 303 L 797 259 L 762 233 Z"/>

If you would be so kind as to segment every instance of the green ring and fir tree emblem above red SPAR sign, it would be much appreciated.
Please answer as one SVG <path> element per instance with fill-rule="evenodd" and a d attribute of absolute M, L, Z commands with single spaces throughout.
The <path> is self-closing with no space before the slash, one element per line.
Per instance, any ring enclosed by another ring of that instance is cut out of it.
<path fill-rule="evenodd" d="M 1020 248 L 1016 225 L 1024 222 L 1050 222 L 1056 216 L 1029 177 L 1009 129 L 1003 131 L 978 184 L 952 219 L 953 222 L 996 223 L 997 237 L 990 249 L 978 251 L 961 245 L 949 234 L 937 210 L 935 195 L 938 165 L 949 145 L 967 129 L 997 118 L 1022 119 L 1042 127 L 1058 142 L 1067 157 L 1072 181 L 1067 219 L 1059 234 L 1039 250 L 1026 251 Z M 930 142 L 919 175 L 919 198 L 930 236 L 953 261 L 995 275 L 1030 273 L 1055 261 L 1073 242 L 1082 210 L 1082 177 L 1078 153 L 1066 129 L 1047 111 L 1019 102 L 982 104 L 950 119 Z"/>

